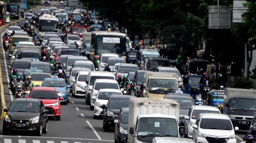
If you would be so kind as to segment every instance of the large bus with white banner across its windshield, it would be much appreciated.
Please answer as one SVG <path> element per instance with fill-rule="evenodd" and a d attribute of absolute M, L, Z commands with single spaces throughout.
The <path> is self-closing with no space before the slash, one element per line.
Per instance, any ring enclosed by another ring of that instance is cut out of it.
<path fill-rule="evenodd" d="M 90 57 L 94 67 L 98 68 L 97 61 L 102 53 L 116 53 L 120 57 L 126 56 L 126 35 L 114 31 L 92 31 Z"/>

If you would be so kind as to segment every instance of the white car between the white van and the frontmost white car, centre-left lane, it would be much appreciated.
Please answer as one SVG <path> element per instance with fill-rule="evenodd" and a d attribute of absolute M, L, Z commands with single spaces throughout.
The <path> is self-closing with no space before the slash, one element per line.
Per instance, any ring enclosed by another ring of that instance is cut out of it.
<path fill-rule="evenodd" d="M 104 88 L 112 88 L 112 89 L 118 89 L 119 84 L 117 80 L 114 79 L 96 79 L 93 86 L 92 86 L 92 92 L 91 92 L 91 103 L 90 103 L 90 109 L 93 110 L 95 98 L 97 96 L 97 93 L 100 89 Z"/>

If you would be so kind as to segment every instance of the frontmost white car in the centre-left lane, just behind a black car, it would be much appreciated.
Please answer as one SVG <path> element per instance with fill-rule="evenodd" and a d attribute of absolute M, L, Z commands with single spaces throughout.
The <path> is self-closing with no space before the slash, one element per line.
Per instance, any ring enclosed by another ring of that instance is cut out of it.
<path fill-rule="evenodd" d="M 122 95 L 122 91 L 118 89 L 108 89 L 108 88 L 103 88 L 98 91 L 98 94 L 96 96 L 95 104 L 94 104 L 94 119 L 98 119 L 99 117 L 103 117 L 103 104 L 108 103 L 108 99 L 112 95 Z"/>

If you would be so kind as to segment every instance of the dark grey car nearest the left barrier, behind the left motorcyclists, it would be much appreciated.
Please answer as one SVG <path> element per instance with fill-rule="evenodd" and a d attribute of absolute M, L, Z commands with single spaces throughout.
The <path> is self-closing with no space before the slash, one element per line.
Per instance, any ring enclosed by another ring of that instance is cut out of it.
<path fill-rule="evenodd" d="M 9 66 L 9 68 L 11 69 L 10 75 L 12 74 L 13 69 L 17 69 L 17 73 L 21 75 L 25 69 L 29 69 L 30 63 L 31 60 L 29 59 L 15 59 L 12 63 L 12 67 Z"/>

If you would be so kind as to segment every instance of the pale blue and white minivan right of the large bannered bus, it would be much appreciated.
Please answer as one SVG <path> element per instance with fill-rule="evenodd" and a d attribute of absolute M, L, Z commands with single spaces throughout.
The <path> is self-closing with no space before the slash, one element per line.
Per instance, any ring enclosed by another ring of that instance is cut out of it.
<path fill-rule="evenodd" d="M 140 61 L 143 65 L 144 60 L 149 57 L 160 57 L 160 54 L 153 49 L 140 49 L 136 57 L 136 62 L 138 63 L 138 61 Z"/>

